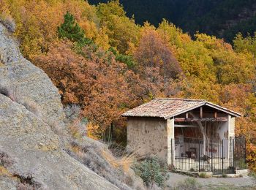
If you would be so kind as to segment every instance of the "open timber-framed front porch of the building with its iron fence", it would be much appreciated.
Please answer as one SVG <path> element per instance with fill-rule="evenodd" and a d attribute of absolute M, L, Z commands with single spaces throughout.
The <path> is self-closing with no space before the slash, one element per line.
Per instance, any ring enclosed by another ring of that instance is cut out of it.
<path fill-rule="evenodd" d="M 173 118 L 171 161 L 176 170 L 234 173 L 246 169 L 245 140 L 235 137 L 234 117 L 206 105 Z"/>

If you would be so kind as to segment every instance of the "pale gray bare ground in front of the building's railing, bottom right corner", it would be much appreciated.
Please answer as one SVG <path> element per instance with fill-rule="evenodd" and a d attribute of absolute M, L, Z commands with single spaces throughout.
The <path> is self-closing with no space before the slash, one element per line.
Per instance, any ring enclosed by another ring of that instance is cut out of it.
<path fill-rule="evenodd" d="M 177 186 L 178 183 L 189 178 L 187 175 L 181 175 L 170 172 L 167 180 L 167 186 Z M 191 178 L 191 177 L 190 177 Z M 195 178 L 200 183 L 200 189 L 256 189 L 256 180 L 252 177 L 244 178 Z"/>

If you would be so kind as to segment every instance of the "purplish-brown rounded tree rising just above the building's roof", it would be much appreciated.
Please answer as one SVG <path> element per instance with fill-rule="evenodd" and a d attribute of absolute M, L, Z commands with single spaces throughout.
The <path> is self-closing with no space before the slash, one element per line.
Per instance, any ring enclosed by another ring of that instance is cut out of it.
<path fill-rule="evenodd" d="M 179 65 L 169 47 L 162 41 L 157 31 L 146 29 L 134 53 L 138 62 L 138 72 L 148 94 L 156 96 L 159 91 L 164 91 L 168 84 L 181 74 Z M 160 94 L 159 94 L 160 95 Z"/>

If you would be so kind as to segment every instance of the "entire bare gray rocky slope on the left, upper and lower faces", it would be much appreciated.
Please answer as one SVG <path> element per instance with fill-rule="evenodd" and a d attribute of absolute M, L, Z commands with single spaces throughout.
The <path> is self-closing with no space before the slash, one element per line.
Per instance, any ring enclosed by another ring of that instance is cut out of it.
<path fill-rule="evenodd" d="M 58 89 L 1 23 L 0 85 L 0 189 L 118 189 L 61 148 Z"/>

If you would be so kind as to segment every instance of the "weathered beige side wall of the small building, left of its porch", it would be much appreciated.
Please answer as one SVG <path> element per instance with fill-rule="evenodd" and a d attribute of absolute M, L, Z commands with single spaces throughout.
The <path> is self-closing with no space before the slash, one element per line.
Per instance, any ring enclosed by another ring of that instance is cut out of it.
<path fill-rule="evenodd" d="M 157 155 L 166 161 L 167 121 L 162 118 L 128 118 L 127 147 L 139 149 L 143 155 Z"/>

